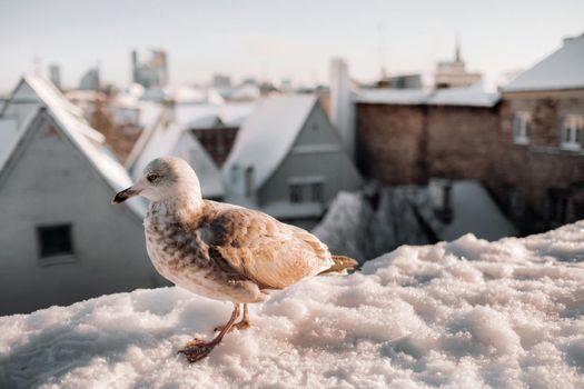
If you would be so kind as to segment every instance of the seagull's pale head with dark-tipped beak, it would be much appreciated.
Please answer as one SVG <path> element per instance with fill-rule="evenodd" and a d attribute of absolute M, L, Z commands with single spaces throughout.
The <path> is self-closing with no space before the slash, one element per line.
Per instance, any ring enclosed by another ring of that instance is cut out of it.
<path fill-rule="evenodd" d="M 181 158 L 161 157 L 143 169 L 136 183 L 117 193 L 111 203 L 121 203 L 135 196 L 150 201 L 201 199 L 200 184 L 195 170 Z"/>

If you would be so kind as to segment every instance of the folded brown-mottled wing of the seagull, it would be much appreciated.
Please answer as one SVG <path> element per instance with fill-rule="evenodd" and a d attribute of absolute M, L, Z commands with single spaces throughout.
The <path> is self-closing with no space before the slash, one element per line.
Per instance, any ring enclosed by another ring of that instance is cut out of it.
<path fill-rule="evenodd" d="M 311 233 L 245 208 L 219 211 L 208 221 L 209 258 L 229 265 L 260 288 L 281 289 L 334 263 Z"/>

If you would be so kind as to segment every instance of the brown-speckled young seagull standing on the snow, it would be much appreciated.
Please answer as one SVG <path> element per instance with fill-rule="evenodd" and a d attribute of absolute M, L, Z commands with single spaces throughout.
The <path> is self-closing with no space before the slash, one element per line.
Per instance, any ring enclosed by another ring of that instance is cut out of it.
<path fill-rule="evenodd" d="M 191 363 L 207 357 L 226 333 L 249 327 L 248 303 L 264 302 L 274 291 L 307 278 L 358 266 L 354 259 L 333 256 L 301 228 L 257 210 L 202 199 L 197 174 L 180 158 L 152 160 L 111 202 L 135 196 L 150 201 L 143 227 L 156 270 L 194 293 L 234 305 L 212 340 L 195 338 L 178 351 Z"/>

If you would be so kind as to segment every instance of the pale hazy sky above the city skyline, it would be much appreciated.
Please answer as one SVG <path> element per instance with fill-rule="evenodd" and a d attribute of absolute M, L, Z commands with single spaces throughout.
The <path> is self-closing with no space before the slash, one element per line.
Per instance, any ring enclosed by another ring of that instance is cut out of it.
<path fill-rule="evenodd" d="M 132 48 L 168 52 L 171 83 L 291 78 L 326 81 L 331 57 L 352 76 L 379 74 L 379 23 L 389 74 L 430 74 L 449 59 L 456 32 L 471 70 L 493 83 L 527 68 L 584 32 L 583 0 L 300 1 L 300 0 L 0 0 L 0 91 L 34 70 L 61 66 L 66 87 L 99 63 L 102 80 L 125 86 Z"/>

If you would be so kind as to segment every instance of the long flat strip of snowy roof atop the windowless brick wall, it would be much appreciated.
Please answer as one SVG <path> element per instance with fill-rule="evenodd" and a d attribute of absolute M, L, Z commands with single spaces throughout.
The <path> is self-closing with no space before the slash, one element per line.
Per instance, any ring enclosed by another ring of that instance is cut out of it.
<path fill-rule="evenodd" d="M 466 88 L 438 89 L 363 89 L 356 97 L 357 102 L 372 104 L 403 106 L 463 106 L 493 107 L 498 102 L 498 93 L 484 91 L 481 83 Z"/>

